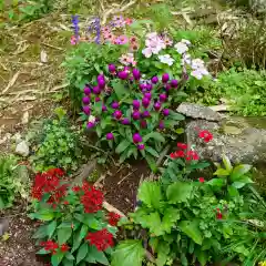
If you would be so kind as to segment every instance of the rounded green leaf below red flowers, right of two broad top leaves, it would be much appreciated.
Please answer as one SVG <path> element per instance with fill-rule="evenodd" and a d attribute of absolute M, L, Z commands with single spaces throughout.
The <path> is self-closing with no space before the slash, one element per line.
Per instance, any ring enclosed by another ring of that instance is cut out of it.
<path fill-rule="evenodd" d="M 167 187 L 166 195 L 171 203 L 186 202 L 193 191 L 193 184 L 177 181 Z"/>

